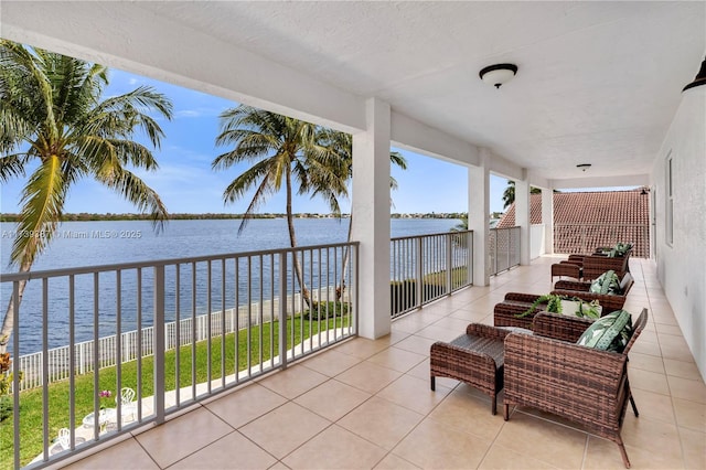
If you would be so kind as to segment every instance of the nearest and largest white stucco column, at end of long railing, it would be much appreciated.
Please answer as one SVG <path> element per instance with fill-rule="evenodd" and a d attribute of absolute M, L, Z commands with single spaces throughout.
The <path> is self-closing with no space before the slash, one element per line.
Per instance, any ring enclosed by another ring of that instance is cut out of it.
<path fill-rule="evenodd" d="M 366 130 L 353 135 L 351 238 L 359 254 L 359 334 L 391 331 L 389 307 L 389 105 L 366 103 Z"/>

